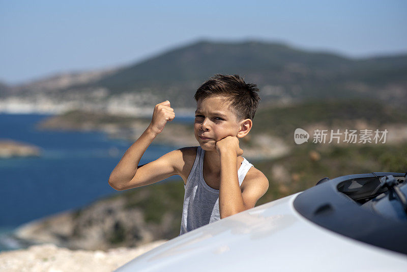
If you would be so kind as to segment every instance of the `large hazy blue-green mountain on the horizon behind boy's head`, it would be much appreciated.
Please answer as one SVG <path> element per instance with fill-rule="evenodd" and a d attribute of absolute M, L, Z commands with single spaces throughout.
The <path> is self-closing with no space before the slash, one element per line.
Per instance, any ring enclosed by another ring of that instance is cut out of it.
<path fill-rule="evenodd" d="M 91 99 L 86 93 L 102 90 L 104 99 L 129 93 L 154 96 L 154 105 L 169 99 L 171 106 L 193 107 L 196 89 L 215 73 L 244 76 L 260 87 L 265 102 L 352 97 L 407 101 L 407 54 L 353 59 L 264 41 L 197 41 L 92 80 L 53 85 L 53 93 L 75 93 L 86 101 Z"/>

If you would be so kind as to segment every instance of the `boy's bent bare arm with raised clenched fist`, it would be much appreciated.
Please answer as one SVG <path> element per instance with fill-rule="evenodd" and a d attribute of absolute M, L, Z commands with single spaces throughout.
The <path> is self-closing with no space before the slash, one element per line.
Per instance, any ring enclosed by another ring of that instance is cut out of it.
<path fill-rule="evenodd" d="M 150 125 L 126 150 L 118 165 L 111 172 L 108 180 L 111 187 L 121 191 L 151 184 L 176 174 L 170 162 L 172 157 L 177 155 L 178 150 L 171 151 L 147 165 L 138 166 L 142 155 L 164 129 L 167 121 L 172 121 L 174 118 L 174 110 L 170 107 L 168 100 L 154 107 Z"/>

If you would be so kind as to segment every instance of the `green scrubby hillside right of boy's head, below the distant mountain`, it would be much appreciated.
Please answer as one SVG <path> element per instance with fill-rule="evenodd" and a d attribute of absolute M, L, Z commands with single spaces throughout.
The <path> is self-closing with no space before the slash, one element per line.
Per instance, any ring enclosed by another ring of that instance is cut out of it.
<path fill-rule="evenodd" d="M 407 108 L 367 99 L 312 100 L 284 107 L 261 107 L 250 133 L 270 133 L 286 139 L 296 128 L 379 129 L 388 124 L 407 124 Z M 394 131 L 396 132 L 396 131 Z M 289 138 L 289 141 L 293 139 Z"/>

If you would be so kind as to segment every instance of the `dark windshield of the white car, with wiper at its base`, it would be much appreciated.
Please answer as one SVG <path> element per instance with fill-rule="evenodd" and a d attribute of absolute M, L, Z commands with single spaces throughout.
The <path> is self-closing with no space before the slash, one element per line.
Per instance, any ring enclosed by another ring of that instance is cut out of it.
<path fill-rule="evenodd" d="M 299 194 L 295 209 L 336 233 L 407 255 L 406 173 L 325 178 Z"/>

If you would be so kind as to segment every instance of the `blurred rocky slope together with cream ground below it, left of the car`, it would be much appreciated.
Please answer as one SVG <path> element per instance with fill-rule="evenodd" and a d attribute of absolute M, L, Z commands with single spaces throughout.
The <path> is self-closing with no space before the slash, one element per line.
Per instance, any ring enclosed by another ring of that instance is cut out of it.
<path fill-rule="evenodd" d="M 0 271 L 113 271 L 178 236 L 182 180 L 152 186 L 21 225 L 10 238 L 24 249 L 0 252 Z M 166 208 L 151 211 L 157 194 Z"/>

